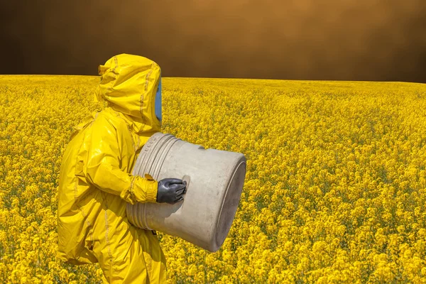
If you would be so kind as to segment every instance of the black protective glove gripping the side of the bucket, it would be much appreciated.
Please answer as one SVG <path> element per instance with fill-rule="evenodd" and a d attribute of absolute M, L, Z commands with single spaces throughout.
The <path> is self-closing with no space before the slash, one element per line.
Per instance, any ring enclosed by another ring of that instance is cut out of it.
<path fill-rule="evenodd" d="M 187 182 L 178 178 L 165 178 L 158 182 L 157 202 L 175 204 L 183 200 Z"/>

